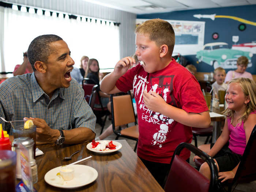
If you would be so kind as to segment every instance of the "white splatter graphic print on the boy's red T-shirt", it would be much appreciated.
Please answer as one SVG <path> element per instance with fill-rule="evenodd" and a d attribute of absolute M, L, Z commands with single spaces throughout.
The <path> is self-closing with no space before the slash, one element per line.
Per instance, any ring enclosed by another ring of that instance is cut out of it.
<path fill-rule="evenodd" d="M 154 91 L 160 95 L 165 102 L 170 105 L 176 106 L 176 101 L 172 93 L 172 80 L 173 76 L 158 76 L 150 79 L 150 82 L 147 81 L 147 76 L 143 77 L 135 75 L 133 79 L 133 91 L 136 97 L 137 105 L 141 110 L 142 120 L 146 123 L 152 124 L 152 126 L 159 125 L 159 128 L 152 135 L 152 145 L 158 145 L 159 148 L 162 147 L 162 144 L 166 141 L 166 134 L 171 131 L 173 119 L 164 116 L 158 112 L 153 112 L 150 109 L 147 109 L 145 103 L 143 102 L 143 90 L 146 90 L 148 93 Z M 150 88 L 150 90 L 147 90 Z"/>

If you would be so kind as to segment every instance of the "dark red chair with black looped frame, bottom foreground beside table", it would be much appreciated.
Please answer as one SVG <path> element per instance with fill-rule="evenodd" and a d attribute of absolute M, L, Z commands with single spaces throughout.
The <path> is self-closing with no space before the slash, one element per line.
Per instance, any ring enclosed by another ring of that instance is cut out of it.
<path fill-rule="evenodd" d="M 211 180 L 209 181 L 187 161 L 179 157 L 183 148 L 204 159 L 211 170 Z M 215 192 L 217 191 L 218 169 L 214 160 L 201 151 L 199 148 L 188 143 L 181 143 L 176 147 L 171 161 L 170 172 L 166 180 L 164 190 L 166 192 Z"/>

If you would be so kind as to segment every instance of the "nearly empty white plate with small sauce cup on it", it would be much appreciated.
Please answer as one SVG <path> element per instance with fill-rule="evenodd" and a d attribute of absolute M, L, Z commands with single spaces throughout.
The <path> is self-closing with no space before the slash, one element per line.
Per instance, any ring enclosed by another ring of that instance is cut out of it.
<path fill-rule="evenodd" d="M 74 167 L 75 175 L 74 178 L 70 181 L 64 181 L 63 184 L 60 184 L 58 181 L 61 179 L 57 176 L 57 173 L 60 172 L 60 167 L 55 167 L 54 169 L 49 170 L 45 174 L 45 181 L 54 187 L 74 189 L 82 187 L 84 185 L 90 184 L 95 181 L 98 177 L 98 172 L 93 167 L 87 165 L 69 165 Z"/>

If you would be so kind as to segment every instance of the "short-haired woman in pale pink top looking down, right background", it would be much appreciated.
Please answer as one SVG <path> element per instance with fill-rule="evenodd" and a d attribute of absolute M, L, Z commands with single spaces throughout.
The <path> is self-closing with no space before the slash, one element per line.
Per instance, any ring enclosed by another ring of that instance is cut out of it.
<path fill-rule="evenodd" d="M 225 83 L 229 83 L 230 80 L 235 79 L 235 78 L 240 78 L 240 77 L 249 78 L 249 79 L 253 80 L 252 74 L 245 71 L 248 63 L 249 63 L 249 61 L 248 61 L 247 57 L 245 57 L 245 56 L 239 57 L 237 59 L 237 69 L 235 71 L 227 72 L 227 75 L 225 78 Z"/>

